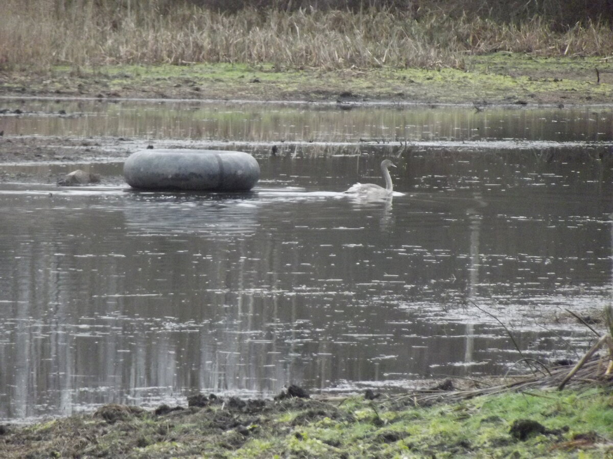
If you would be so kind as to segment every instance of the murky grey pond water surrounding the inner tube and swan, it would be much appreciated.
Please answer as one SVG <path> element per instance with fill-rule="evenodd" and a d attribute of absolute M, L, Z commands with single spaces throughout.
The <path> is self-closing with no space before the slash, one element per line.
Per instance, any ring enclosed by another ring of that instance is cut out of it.
<path fill-rule="evenodd" d="M 242 149 L 261 181 L 135 192 L 101 160 L 98 186 L 0 184 L 0 419 L 504 375 L 577 359 L 566 310 L 611 304 L 611 108 L 3 104 L 5 138 Z M 341 193 L 383 158 L 403 196 Z"/>

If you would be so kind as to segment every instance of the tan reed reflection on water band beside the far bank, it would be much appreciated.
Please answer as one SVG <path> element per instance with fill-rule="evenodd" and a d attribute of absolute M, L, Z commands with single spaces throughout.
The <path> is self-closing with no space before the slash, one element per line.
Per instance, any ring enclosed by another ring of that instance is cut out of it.
<path fill-rule="evenodd" d="M 509 108 L 0 100 L 6 134 L 229 142 L 611 142 L 611 107 Z M 14 111 L 19 110 L 20 114 Z M 63 113 L 65 112 L 65 113 Z"/>

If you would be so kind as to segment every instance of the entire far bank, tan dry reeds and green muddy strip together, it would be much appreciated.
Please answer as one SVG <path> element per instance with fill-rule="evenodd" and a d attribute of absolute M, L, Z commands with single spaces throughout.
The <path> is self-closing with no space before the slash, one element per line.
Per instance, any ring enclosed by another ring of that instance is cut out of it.
<path fill-rule="evenodd" d="M 613 30 L 590 18 L 566 24 L 519 9 L 502 20 L 481 2 L 232 12 L 203 3 L 7 0 L 0 95 L 554 105 L 613 97 Z"/>

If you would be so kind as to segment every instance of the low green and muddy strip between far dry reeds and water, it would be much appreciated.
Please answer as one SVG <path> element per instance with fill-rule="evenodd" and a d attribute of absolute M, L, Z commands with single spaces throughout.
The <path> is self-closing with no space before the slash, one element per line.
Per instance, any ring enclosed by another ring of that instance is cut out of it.
<path fill-rule="evenodd" d="M 0 96 L 301 100 L 348 103 L 610 104 L 613 69 L 598 57 L 467 56 L 466 69 L 286 70 L 271 64 L 57 66 L 0 72 Z M 596 73 L 599 69 L 599 73 Z"/>

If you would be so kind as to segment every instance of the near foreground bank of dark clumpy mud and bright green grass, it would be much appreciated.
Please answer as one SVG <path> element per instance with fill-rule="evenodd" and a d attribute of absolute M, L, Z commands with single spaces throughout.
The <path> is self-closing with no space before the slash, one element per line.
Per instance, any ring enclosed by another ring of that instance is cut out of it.
<path fill-rule="evenodd" d="M 154 412 L 1 426 L 3 458 L 42 457 L 581 457 L 613 455 L 609 389 L 531 390 L 414 406 L 411 397 L 207 398 Z"/>

